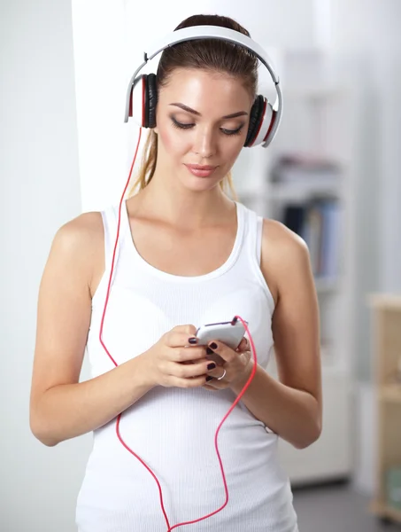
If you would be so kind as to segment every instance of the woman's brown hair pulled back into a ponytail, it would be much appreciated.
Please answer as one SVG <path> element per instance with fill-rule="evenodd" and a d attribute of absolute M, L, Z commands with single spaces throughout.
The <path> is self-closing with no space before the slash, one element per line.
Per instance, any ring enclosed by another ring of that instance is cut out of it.
<path fill-rule="evenodd" d="M 220 26 L 234 29 L 250 37 L 249 32 L 235 20 L 220 15 L 193 15 L 183 20 L 176 28 L 191 26 Z M 175 31 L 174 30 L 174 31 Z M 158 87 L 166 86 L 175 68 L 202 68 L 203 70 L 230 74 L 242 78 L 244 86 L 250 90 L 252 98 L 256 97 L 258 83 L 258 59 L 256 55 L 239 44 L 217 39 L 185 41 L 166 48 L 158 63 Z M 150 129 L 143 147 L 143 159 L 138 170 L 138 177 L 132 185 L 129 195 L 135 193 L 139 185 L 142 190 L 150 183 L 156 169 L 158 158 L 158 135 Z M 231 172 L 220 182 L 224 191 L 228 184 L 234 199 L 236 194 Z"/>

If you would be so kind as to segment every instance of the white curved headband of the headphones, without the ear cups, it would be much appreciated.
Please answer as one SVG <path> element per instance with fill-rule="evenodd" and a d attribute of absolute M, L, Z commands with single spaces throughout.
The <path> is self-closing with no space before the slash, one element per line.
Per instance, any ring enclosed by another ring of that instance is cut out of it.
<path fill-rule="evenodd" d="M 174 46 L 174 44 L 183 43 L 185 41 L 201 40 L 201 39 L 220 39 L 222 41 L 228 41 L 231 43 L 239 44 L 243 46 L 243 48 L 247 48 L 248 50 L 252 51 L 258 57 L 260 62 L 266 66 L 267 70 L 269 71 L 269 74 L 272 77 L 272 80 L 274 82 L 274 88 L 277 92 L 277 98 L 274 102 L 274 105 L 272 106 L 274 111 L 276 112 L 276 118 L 274 120 L 273 128 L 270 131 L 270 135 L 269 135 L 270 142 L 271 142 L 271 139 L 273 139 L 275 132 L 278 129 L 280 122 L 281 122 L 282 95 L 281 95 L 279 77 L 278 75 L 275 74 L 274 68 L 272 66 L 272 61 L 268 58 L 266 51 L 264 51 L 263 48 L 258 43 L 255 43 L 255 41 L 253 41 L 247 35 L 243 35 L 242 33 L 235 31 L 234 29 L 229 29 L 227 27 L 220 27 L 220 26 L 183 27 L 182 29 L 178 29 L 166 35 L 161 41 L 156 43 L 150 49 L 149 53 L 147 53 L 146 51 L 143 52 L 143 63 L 140 66 L 138 66 L 138 68 L 135 70 L 135 73 L 132 75 L 131 80 L 128 83 L 127 98 L 126 98 L 126 113 L 125 113 L 124 121 L 125 122 L 128 121 L 131 93 L 132 93 L 133 87 L 135 86 L 135 82 L 139 81 L 140 79 L 140 78 L 137 78 L 137 75 L 143 69 L 143 66 L 145 66 L 146 63 L 150 59 L 153 59 L 156 55 L 158 55 L 158 53 L 166 50 L 166 48 L 169 48 L 170 46 Z M 263 144 L 263 146 L 266 146 L 266 143 Z"/>

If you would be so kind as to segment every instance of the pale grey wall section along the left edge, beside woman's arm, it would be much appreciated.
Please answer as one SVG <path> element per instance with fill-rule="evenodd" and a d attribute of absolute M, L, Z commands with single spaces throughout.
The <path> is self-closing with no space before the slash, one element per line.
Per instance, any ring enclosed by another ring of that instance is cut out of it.
<path fill-rule="evenodd" d="M 39 280 L 81 212 L 71 5 L 3 2 L 0 20 L 0 530 L 71 532 L 90 436 L 49 449 L 28 425 Z"/>

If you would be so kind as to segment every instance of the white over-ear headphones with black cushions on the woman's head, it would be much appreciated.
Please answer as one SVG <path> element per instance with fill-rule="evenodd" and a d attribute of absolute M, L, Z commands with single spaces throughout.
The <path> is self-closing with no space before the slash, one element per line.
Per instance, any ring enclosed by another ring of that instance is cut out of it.
<path fill-rule="evenodd" d="M 193 26 L 178 29 L 157 43 L 150 53 L 143 53 L 143 63 L 133 74 L 127 90 L 126 113 L 124 121 L 132 116 L 138 126 L 142 128 L 156 127 L 156 105 L 158 102 L 156 74 L 141 74 L 139 72 L 148 60 L 153 59 L 158 53 L 169 46 L 185 41 L 198 39 L 220 39 L 236 43 L 255 53 L 258 59 L 266 66 L 274 82 L 277 98 L 272 106 L 267 98 L 261 94 L 255 98 L 251 107 L 250 124 L 244 146 L 252 147 L 262 145 L 266 148 L 274 139 L 281 122 L 282 96 L 280 81 L 274 73 L 271 61 L 258 43 L 234 29 L 220 26 Z"/>

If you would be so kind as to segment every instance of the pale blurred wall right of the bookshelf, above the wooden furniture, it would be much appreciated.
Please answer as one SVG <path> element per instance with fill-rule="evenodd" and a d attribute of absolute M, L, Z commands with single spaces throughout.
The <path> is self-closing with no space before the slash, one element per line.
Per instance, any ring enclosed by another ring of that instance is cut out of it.
<path fill-rule="evenodd" d="M 332 0 L 332 44 L 359 84 L 357 374 L 372 378 L 366 293 L 401 291 L 401 3 Z"/>

